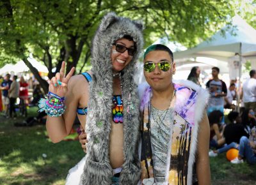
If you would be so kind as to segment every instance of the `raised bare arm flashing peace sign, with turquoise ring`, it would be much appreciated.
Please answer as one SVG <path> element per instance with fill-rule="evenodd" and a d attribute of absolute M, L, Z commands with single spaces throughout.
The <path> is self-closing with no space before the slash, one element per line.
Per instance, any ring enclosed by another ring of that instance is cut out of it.
<path fill-rule="evenodd" d="M 65 76 L 65 62 L 63 62 L 60 73 L 56 73 L 55 77 L 52 77 L 50 81 L 49 92 L 59 97 L 65 97 L 65 107 L 67 107 L 63 115 L 58 117 L 47 115 L 46 129 L 54 143 L 60 142 L 70 133 L 76 118 L 76 108 L 80 98 L 78 93 L 81 85 L 77 86 L 79 82 L 74 80 L 78 77 L 72 77 L 74 71 L 75 68 L 72 68 L 67 76 Z"/>

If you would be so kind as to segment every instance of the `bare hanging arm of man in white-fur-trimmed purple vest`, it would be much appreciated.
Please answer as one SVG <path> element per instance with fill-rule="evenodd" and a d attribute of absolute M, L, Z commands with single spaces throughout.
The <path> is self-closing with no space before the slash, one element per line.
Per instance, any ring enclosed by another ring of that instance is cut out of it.
<path fill-rule="evenodd" d="M 196 174 L 199 185 L 211 184 L 211 170 L 209 164 L 210 128 L 206 112 L 199 123 L 198 153 L 196 158 Z"/>

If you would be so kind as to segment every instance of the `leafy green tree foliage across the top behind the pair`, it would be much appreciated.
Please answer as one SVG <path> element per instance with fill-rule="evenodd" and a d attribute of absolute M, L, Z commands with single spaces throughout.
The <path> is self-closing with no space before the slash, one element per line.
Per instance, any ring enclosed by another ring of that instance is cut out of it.
<path fill-rule="evenodd" d="M 45 92 L 47 83 L 27 60 L 29 53 L 47 66 L 49 78 L 61 61 L 67 61 L 67 70 L 79 66 L 81 72 L 90 61 L 93 34 L 109 11 L 143 20 L 145 46 L 162 36 L 193 46 L 234 15 L 228 0 L 2 0 L 0 8 L 1 53 L 22 59 Z M 6 57 L 0 59 L 6 62 Z"/>

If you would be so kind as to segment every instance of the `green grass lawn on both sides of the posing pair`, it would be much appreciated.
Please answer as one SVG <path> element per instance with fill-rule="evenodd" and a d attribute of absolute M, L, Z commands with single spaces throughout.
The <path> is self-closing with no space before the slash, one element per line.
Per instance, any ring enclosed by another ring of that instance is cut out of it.
<path fill-rule="evenodd" d="M 36 109 L 29 108 L 29 116 L 36 115 Z M 68 169 L 84 156 L 79 142 L 52 144 L 44 125 L 13 126 L 23 119 L 0 115 L 0 184 L 65 184 Z M 221 154 L 211 158 L 211 175 L 212 185 L 256 184 L 256 165 L 232 165 Z"/>

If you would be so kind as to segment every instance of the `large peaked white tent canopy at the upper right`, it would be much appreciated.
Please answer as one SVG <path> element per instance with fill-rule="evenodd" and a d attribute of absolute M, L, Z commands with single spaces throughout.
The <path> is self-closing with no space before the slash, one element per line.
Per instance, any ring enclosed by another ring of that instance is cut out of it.
<path fill-rule="evenodd" d="M 175 52 L 175 59 L 189 57 L 212 57 L 221 61 L 228 61 L 238 53 L 246 60 L 256 61 L 256 30 L 248 25 L 241 17 L 232 18 L 232 26 L 225 26 L 209 40 L 204 41 L 194 48 Z"/>

